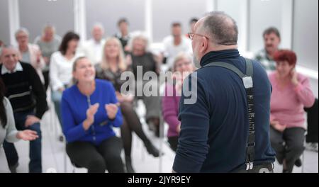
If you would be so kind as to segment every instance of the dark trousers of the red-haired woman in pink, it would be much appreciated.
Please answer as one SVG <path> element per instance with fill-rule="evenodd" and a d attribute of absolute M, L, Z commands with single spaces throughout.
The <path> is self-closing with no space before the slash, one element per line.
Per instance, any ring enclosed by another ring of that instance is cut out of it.
<path fill-rule="evenodd" d="M 303 128 L 287 128 L 279 132 L 270 127 L 270 141 L 276 151 L 276 159 L 282 164 L 286 159 L 287 171 L 292 172 L 296 160 L 303 154 L 305 147 L 305 130 Z"/>

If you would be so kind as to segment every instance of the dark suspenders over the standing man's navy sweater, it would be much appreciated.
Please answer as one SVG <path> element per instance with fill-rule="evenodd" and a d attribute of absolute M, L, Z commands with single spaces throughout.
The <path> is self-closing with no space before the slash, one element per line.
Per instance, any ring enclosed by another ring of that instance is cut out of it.
<path fill-rule="evenodd" d="M 246 74 L 243 74 L 240 69 L 233 66 L 232 64 L 228 64 L 225 62 L 211 62 L 206 64 L 204 67 L 223 67 L 225 69 L 230 69 L 235 72 L 235 74 L 242 79 L 242 83 L 245 86 L 246 96 L 247 96 L 247 108 L 248 108 L 248 118 L 249 118 L 249 134 L 247 137 L 247 146 L 246 146 L 246 170 L 250 170 L 254 166 L 254 146 L 255 143 L 255 135 L 254 135 L 254 95 L 253 95 L 253 67 L 252 61 L 249 59 L 245 59 L 246 62 Z"/>

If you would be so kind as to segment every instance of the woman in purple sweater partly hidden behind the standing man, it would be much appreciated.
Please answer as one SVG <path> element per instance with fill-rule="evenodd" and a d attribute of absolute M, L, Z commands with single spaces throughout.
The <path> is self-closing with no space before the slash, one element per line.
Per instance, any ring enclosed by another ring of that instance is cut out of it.
<path fill-rule="evenodd" d="M 181 85 L 183 80 L 194 72 L 195 67 L 192 63 L 191 57 L 185 53 L 180 53 L 174 60 L 174 84 L 165 86 L 164 97 L 162 98 L 162 113 L 165 122 L 169 125 L 167 138 L 170 147 L 176 152 L 179 131 L 181 130 L 181 122 L 178 120 L 179 115 L 179 99 L 181 97 Z"/>

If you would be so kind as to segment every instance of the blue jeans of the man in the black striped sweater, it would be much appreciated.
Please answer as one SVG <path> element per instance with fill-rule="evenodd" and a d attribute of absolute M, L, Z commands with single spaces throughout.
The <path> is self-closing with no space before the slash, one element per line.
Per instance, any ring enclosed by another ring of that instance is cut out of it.
<path fill-rule="evenodd" d="M 42 157 L 41 157 L 41 130 L 40 123 L 34 123 L 28 128 L 25 127 L 26 118 L 28 115 L 34 115 L 33 111 L 18 112 L 14 113 L 14 120 L 16 121 L 17 130 L 34 130 L 38 133 L 38 139 L 30 141 L 30 163 L 29 172 L 30 173 L 42 173 Z M 15 166 L 18 163 L 18 153 L 16 152 L 16 147 L 13 143 L 4 141 L 4 152 L 6 153 L 6 159 L 9 166 Z"/>

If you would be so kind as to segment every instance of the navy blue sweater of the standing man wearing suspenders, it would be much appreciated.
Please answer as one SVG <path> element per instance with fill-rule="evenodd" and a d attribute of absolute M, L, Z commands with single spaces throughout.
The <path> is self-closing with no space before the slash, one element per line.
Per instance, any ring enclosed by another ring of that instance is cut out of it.
<path fill-rule="evenodd" d="M 246 72 L 245 59 L 238 50 L 209 52 L 201 66 L 209 62 L 233 64 Z M 274 162 L 269 140 L 270 95 L 267 73 L 253 62 L 255 107 L 254 164 Z M 190 77 L 186 79 L 191 84 Z M 197 71 L 197 101 L 184 104 L 181 96 L 179 120 L 181 132 L 174 160 L 177 172 L 232 172 L 245 169 L 248 135 L 247 98 L 242 80 L 223 67 L 204 67 Z"/>

